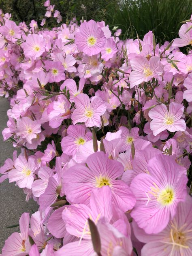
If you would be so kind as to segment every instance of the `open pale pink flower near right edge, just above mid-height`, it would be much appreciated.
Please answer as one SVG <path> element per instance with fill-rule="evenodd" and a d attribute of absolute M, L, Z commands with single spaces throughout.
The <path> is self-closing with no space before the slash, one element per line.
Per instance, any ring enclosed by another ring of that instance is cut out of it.
<path fill-rule="evenodd" d="M 180 119 L 183 115 L 184 106 L 181 104 L 171 102 L 169 105 L 169 111 L 166 105 L 157 105 L 149 111 L 149 117 L 152 119 L 150 123 L 150 129 L 156 136 L 164 130 L 170 132 L 184 131 L 186 130 L 186 122 Z"/>

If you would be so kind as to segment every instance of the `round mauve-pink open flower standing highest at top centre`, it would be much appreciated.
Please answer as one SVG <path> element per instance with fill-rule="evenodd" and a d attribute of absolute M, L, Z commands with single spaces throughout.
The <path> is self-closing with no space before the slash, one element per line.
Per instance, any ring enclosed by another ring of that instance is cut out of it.
<path fill-rule="evenodd" d="M 77 48 L 89 56 L 100 53 L 105 41 L 106 38 L 103 31 L 92 19 L 81 23 L 79 32 L 75 35 Z"/>

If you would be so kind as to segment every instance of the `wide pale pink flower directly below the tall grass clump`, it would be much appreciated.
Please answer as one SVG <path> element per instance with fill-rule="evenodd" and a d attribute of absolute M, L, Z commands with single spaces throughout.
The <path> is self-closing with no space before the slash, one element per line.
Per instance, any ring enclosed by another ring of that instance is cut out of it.
<path fill-rule="evenodd" d="M 158 78 L 162 75 L 162 68 L 159 64 L 159 57 L 151 57 L 148 61 L 143 56 L 136 56 L 130 60 L 131 67 L 134 71 L 130 73 L 130 88 L 140 83 L 148 82 L 152 78 Z"/>

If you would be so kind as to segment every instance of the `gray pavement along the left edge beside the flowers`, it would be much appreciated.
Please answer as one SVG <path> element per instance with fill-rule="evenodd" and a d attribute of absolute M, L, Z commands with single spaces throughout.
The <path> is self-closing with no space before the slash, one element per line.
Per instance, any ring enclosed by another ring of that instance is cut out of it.
<path fill-rule="evenodd" d="M 2 130 L 6 127 L 8 117 L 6 111 L 9 109 L 9 102 L 0 97 L 0 166 L 7 158 L 12 158 L 14 148 L 12 144 L 6 143 L 2 138 Z M 21 188 L 5 180 L 0 183 L 0 253 L 4 246 L 4 241 L 13 232 L 19 232 L 17 228 L 6 228 L 19 223 L 19 217 L 23 212 L 37 211 L 38 205 L 32 199 L 25 201 L 26 195 Z"/>

